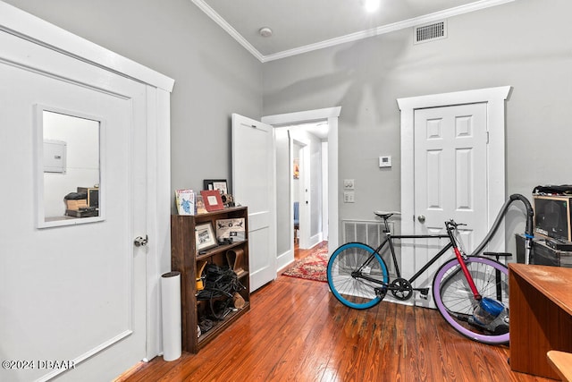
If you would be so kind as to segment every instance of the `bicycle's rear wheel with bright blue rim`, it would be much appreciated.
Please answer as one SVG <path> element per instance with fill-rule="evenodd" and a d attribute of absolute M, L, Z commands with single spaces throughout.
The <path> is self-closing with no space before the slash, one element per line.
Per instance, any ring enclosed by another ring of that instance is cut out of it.
<path fill-rule="evenodd" d="M 389 278 L 383 259 L 361 242 L 349 242 L 335 250 L 326 274 L 336 299 L 353 309 L 371 308 L 382 301 Z"/>

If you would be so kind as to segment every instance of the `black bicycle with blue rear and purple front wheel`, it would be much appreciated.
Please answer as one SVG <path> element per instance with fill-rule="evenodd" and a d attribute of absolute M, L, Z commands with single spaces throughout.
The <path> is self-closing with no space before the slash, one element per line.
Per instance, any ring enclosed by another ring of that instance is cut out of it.
<path fill-rule="evenodd" d="M 509 342 L 509 270 L 499 261 L 484 256 L 467 256 L 458 236 L 458 224 L 445 222 L 446 233 L 392 235 L 387 220 L 395 211 L 375 211 L 383 219 L 382 243 L 373 249 L 363 242 L 349 242 L 334 250 L 328 261 L 327 279 L 333 295 L 349 308 L 363 310 L 373 307 L 388 292 L 400 301 L 414 292 L 427 298 L 429 288 L 412 284 L 437 259 L 452 248 L 455 257 L 446 261 L 433 277 L 433 301 L 442 317 L 460 334 L 484 344 Z M 396 239 L 449 239 L 415 275 L 401 277 L 393 241 Z M 389 273 L 382 258 L 388 245 L 396 277 Z M 484 252 L 485 256 L 508 256 L 508 253 Z"/>

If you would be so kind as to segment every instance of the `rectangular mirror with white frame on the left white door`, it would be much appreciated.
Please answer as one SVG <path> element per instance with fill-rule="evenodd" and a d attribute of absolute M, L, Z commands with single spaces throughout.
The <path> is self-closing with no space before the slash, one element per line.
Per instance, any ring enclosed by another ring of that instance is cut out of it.
<path fill-rule="evenodd" d="M 38 228 L 105 219 L 102 118 L 37 105 Z"/>

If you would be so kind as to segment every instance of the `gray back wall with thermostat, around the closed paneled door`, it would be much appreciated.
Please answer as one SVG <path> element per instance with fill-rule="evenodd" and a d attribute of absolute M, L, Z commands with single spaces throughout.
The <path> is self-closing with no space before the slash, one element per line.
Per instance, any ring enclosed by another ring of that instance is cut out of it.
<path fill-rule="evenodd" d="M 397 98 L 510 85 L 506 194 L 571 183 L 572 27 L 568 0 L 518 0 L 450 18 L 448 38 L 413 45 L 412 30 L 367 38 L 264 65 L 264 114 L 341 106 L 339 178 L 356 203 L 340 218 L 400 208 Z M 391 155 L 391 169 L 377 157 Z M 341 184 L 339 198 L 341 198 Z M 512 208 L 507 228 L 524 229 Z"/>

